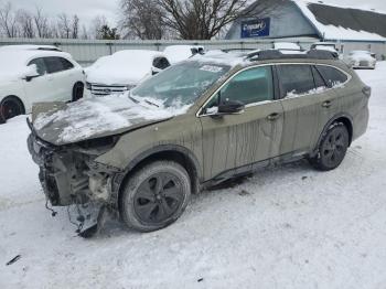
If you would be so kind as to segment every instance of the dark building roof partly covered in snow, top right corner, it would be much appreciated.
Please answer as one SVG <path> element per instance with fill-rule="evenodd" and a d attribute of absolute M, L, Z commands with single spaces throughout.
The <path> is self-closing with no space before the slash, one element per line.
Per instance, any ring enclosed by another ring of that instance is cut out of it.
<path fill-rule="evenodd" d="M 386 14 L 293 0 L 324 40 L 386 41 Z"/>

